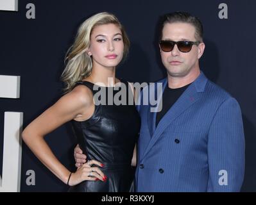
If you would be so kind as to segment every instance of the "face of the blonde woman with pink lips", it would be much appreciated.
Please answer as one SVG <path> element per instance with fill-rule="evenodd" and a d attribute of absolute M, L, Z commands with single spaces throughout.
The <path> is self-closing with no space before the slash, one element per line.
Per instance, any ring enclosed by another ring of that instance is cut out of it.
<path fill-rule="evenodd" d="M 88 54 L 94 66 L 115 67 L 122 60 L 123 52 L 123 35 L 118 26 L 104 24 L 92 30 Z"/>

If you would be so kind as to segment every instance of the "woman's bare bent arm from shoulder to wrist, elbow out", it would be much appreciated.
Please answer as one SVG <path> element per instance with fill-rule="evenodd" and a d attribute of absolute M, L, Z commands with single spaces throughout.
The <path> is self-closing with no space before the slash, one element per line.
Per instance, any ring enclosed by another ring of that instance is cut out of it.
<path fill-rule="evenodd" d="M 35 156 L 64 183 L 67 183 L 71 172 L 58 161 L 44 140 L 44 136 L 69 120 L 79 117 L 88 119 L 93 113 L 93 108 L 92 93 L 89 88 L 77 86 L 33 120 L 22 132 L 24 142 Z M 82 180 L 77 175 L 73 176 L 73 179 L 76 179 L 76 182 Z"/>

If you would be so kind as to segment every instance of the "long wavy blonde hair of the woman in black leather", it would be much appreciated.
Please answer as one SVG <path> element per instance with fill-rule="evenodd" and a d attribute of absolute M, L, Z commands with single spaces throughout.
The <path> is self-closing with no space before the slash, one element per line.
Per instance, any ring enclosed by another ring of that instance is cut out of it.
<path fill-rule="evenodd" d="M 65 57 L 67 65 L 62 73 L 62 81 L 65 83 L 64 93 L 70 92 L 74 88 L 76 81 L 81 81 L 83 78 L 90 76 L 92 71 L 92 57 L 86 53 L 90 46 L 90 35 L 96 26 L 103 24 L 115 24 L 119 27 L 124 42 L 123 58 L 128 55 L 130 41 L 123 25 L 117 17 L 108 12 L 93 15 L 81 24 L 74 44 L 67 51 Z"/>

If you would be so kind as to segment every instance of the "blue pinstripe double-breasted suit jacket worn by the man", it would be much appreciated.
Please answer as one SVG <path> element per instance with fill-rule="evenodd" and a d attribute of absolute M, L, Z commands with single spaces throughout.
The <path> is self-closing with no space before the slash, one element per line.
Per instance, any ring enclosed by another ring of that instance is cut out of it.
<path fill-rule="evenodd" d="M 167 78 L 157 83 L 162 83 L 164 90 Z M 143 91 L 141 99 L 142 95 Z M 150 111 L 150 105 L 137 108 L 142 122 L 137 192 L 239 192 L 244 177 L 241 110 L 237 101 L 203 72 L 157 127 L 157 113 Z"/>

